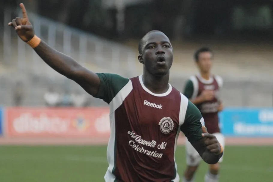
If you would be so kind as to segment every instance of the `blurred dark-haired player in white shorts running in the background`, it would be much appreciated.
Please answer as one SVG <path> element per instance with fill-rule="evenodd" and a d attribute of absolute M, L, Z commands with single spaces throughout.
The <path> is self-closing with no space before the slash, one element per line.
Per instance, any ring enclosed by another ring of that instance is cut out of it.
<path fill-rule="evenodd" d="M 211 74 L 212 59 L 213 52 L 209 48 L 203 47 L 195 52 L 194 60 L 199 73 L 191 76 L 187 81 L 184 95 L 201 111 L 208 133 L 216 136 L 217 140 L 224 146 L 224 136 L 220 133 L 218 118 L 218 112 L 223 110 L 223 104 L 219 98 L 223 80 L 220 76 Z M 187 169 L 184 172 L 184 182 L 193 182 L 201 158 L 188 141 L 186 141 L 186 161 Z M 219 181 L 219 163 L 222 161 L 223 157 L 217 164 L 209 165 L 205 182 Z"/>

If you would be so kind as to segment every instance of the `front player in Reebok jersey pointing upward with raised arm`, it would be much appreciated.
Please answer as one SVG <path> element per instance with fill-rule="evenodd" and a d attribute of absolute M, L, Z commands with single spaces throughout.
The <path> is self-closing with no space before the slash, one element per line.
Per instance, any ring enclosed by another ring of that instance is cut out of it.
<path fill-rule="evenodd" d="M 20 7 L 23 18 L 9 23 L 18 36 L 46 64 L 110 105 L 106 182 L 178 182 L 174 154 L 180 130 L 205 162 L 218 162 L 223 148 L 203 127 L 200 111 L 169 84 L 173 48 L 164 33 L 150 31 L 140 40 L 143 75 L 128 79 L 93 73 L 35 36 L 24 5 Z"/>

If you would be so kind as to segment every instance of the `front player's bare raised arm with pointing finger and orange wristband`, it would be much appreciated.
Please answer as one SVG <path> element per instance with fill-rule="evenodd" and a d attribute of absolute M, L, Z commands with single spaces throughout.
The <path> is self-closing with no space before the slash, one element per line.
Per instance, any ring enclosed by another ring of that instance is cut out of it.
<path fill-rule="evenodd" d="M 24 4 L 20 4 L 23 16 L 13 19 L 8 25 L 12 26 L 18 36 L 28 43 L 37 54 L 54 70 L 77 82 L 89 94 L 95 96 L 100 86 L 100 78 L 96 73 L 82 67 L 73 58 L 47 45 L 35 36 L 33 26 L 29 22 Z"/>

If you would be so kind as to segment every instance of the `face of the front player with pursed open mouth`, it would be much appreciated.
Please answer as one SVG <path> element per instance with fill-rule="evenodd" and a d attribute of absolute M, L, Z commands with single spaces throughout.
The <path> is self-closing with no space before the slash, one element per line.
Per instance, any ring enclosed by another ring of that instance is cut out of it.
<path fill-rule="evenodd" d="M 169 73 L 173 64 L 173 47 L 162 32 L 149 34 L 144 43 L 142 61 L 145 69 L 155 76 Z"/>

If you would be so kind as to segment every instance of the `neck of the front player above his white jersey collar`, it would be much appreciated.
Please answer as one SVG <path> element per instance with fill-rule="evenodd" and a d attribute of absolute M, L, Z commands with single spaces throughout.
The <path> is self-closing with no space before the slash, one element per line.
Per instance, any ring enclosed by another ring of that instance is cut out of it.
<path fill-rule="evenodd" d="M 164 76 L 153 76 L 148 72 L 143 72 L 142 80 L 146 88 L 155 94 L 163 94 L 168 91 L 170 74 Z"/>

